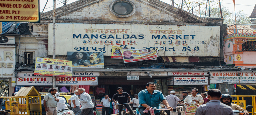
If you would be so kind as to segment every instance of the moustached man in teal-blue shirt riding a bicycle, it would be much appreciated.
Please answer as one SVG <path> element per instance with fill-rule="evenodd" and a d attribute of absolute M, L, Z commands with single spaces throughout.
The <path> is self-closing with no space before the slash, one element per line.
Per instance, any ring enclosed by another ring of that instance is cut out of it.
<path fill-rule="evenodd" d="M 156 85 L 155 83 L 149 82 L 146 85 L 145 90 L 142 90 L 139 92 L 139 112 L 141 115 L 150 115 L 150 112 L 143 113 L 143 111 L 154 109 L 156 107 L 157 109 L 162 109 L 160 107 L 160 102 L 162 101 L 163 104 L 167 107 L 167 109 L 173 110 L 172 107 L 169 106 L 169 103 L 167 102 L 166 98 L 164 98 L 161 91 L 155 90 Z M 160 111 L 154 111 L 155 115 L 160 115 Z"/>

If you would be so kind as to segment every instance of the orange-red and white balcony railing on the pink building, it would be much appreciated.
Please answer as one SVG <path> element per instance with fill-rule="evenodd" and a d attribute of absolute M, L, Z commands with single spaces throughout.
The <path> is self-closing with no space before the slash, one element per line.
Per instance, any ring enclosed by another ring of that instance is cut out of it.
<path fill-rule="evenodd" d="M 234 24 L 231 26 L 227 26 L 227 34 L 234 33 L 256 33 L 256 25 L 255 24 Z"/>

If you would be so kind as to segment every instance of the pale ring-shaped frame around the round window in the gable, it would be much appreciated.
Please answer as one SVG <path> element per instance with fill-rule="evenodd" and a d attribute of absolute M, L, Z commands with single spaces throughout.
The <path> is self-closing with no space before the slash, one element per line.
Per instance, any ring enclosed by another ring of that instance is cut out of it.
<path fill-rule="evenodd" d="M 120 2 L 126 2 L 126 3 L 130 4 L 130 5 L 132 6 L 132 11 L 131 11 L 129 14 L 127 14 L 127 15 L 120 15 L 120 14 L 117 14 L 117 13 L 113 10 L 113 6 L 114 6 L 116 3 L 120 3 Z M 131 15 L 133 15 L 133 14 L 135 13 L 135 4 L 132 3 L 131 1 L 128 1 L 128 0 L 117 0 L 117 1 L 114 1 L 114 2 L 112 2 L 112 3 L 110 4 L 109 9 L 110 9 L 110 12 L 111 12 L 112 14 L 114 14 L 115 16 L 125 18 L 125 17 L 129 17 L 129 16 L 131 16 Z"/>

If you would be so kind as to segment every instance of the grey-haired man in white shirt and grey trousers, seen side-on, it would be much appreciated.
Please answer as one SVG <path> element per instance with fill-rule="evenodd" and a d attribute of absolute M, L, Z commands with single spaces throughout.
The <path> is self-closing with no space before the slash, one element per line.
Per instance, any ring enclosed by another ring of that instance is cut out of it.
<path fill-rule="evenodd" d="M 77 90 L 81 95 L 80 95 L 80 99 L 78 99 L 80 101 L 81 104 L 81 115 L 94 115 L 93 113 L 93 101 L 91 96 L 85 92 L 85 89 L 83 88 L 78 88 Z"/>

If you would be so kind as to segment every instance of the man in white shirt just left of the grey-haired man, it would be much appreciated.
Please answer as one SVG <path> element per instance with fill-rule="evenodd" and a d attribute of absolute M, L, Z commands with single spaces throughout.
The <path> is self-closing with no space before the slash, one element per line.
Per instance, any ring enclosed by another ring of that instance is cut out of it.
<path fill-rule="evenodd" d="M 74 91 L 74 95 L 68 99 L 69 105 L 72 107 L 72 111 L 75 113 L 75 115 L 80 115 L 81 114 L 81 109 L 80 109 L 80 101 L 78 100 L 78 91 Z M 72 101 L 72 102 L 71 102 Z"/>

